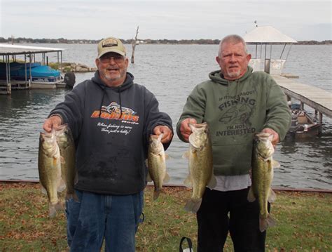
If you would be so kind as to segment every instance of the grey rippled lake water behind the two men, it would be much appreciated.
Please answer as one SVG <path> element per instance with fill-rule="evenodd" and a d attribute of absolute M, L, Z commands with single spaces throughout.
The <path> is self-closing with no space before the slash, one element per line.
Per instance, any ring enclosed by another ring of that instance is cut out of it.
<path fill-rule="evenodd" d="M 67 48 L 64 62 L 95 66 L 96 45 L 29 44 Z M 128 56 L 131 46 L 125 45 Z M 282 47 L 276 46 L 280 51 Z M 254 52 L 254 47 L 249 46 Z M 135 64 L 129 66 L 138 84 L 155 93 L 160 110 L 170 114 L 175 128 L 188 94 L 196 84 L 205 81 L 208 73 L 218 69 L 214 58 L 216 45 L 139 45 Z M 48 54 L 49 62 L 56 54 Z M 332 46 L 293 46 L 284 73 L 298 75 L 298 81 L 332 92 Z M 76 84 L 90 79 L 93 73 L 76 74 Z M 38 180 L 37 155 L 39 132 L 50 110 L 64 99 L 66 91 L 13 91 L 0 95 L 0 180 Z M 332 98 L 331 98 L 332 99 Z M 309 107 L 305 107 L 313 113 Z M 332 188 L 332 119 L 324 117 L 321 135 L 307 140 L 279 143 L 274 155 L 282 167 L 275 171 L 273 185 L 294 188 Z M 174 135 L 167 150 L 170 183 L 182 185 L 188 174 L 188 161 L 182 154 L 188 144 Z"/>

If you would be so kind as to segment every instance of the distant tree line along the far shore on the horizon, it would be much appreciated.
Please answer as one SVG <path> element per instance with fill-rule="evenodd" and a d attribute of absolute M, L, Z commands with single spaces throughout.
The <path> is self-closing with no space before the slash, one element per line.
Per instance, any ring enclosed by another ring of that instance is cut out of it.
<path fill-rule="evenodd" d="M 13 43 L 13 44 L 23 44 L 23 43 L 34 43 L 34 44 L 97 44 L 99 40 L 95 39 L 31 39 L 31 38 L 11 38 L 5 39 L 0 37 L 0 43 Z M 121 39 L 124 44 L 132 44 L 133 39 Z M 219 44 L 219 39 L 139 39 L 139 44 L 200 44 L 200 45 L 216 45 Z M 332 44 L 332 40 L 324 41 L 298 41 L 298 44 L 306 45 L 322 45 L 322 44 Z"/>

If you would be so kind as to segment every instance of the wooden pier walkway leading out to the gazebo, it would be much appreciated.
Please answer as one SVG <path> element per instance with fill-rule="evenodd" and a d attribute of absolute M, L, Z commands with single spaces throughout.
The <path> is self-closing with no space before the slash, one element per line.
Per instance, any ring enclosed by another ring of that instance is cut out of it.
<path fill-rule="evenodd" d="M 322 124 L 323 114 L 332 118 L 332 93 L 315 86 L 301 84 L 293 79 L 287 79 L 280 75 L 272 75 L 273 79 L 282 88 L 288 100 L 294 98 L 300 101 L 303 109 L 304 105 L 308 105 L 319 113 L 319 124 Z"/>

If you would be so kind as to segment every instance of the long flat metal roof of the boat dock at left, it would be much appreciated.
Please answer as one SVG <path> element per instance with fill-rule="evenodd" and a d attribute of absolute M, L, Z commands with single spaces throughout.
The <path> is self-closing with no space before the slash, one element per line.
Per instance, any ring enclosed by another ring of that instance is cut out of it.
<path fill-rule="evenodd" d="M 50 48 L 40 46 L 18 46 L 11 44 L 0 44 L 0 55 L 19 55 L 29 53 L 50 53 L 60 52 L 66 49 L 63 48 Z"/>

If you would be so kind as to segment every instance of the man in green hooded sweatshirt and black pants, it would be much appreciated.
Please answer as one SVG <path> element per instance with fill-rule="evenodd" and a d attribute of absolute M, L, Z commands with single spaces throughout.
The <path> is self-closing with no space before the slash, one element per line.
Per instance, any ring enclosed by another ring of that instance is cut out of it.
<path fill-rule="evenodd" d="M 217 184 L 205 190 L 197 213 L 198 252 L 223 251 L 228 232 L 235 251 L 265 248 L 258 201 L 247 200 L 253 138 L 261 131 L 270 133 L 276 145 L 289 129 L 291 114 L 281 88 L 269 74 L 253 72 L 250 59 L 242 37 L 225 37 L 216 57 L 221 70 L 195 86 L 177 123 L 184 142 L 191 134 L 188 124 L 205 121 L 212 138 Z"/>

